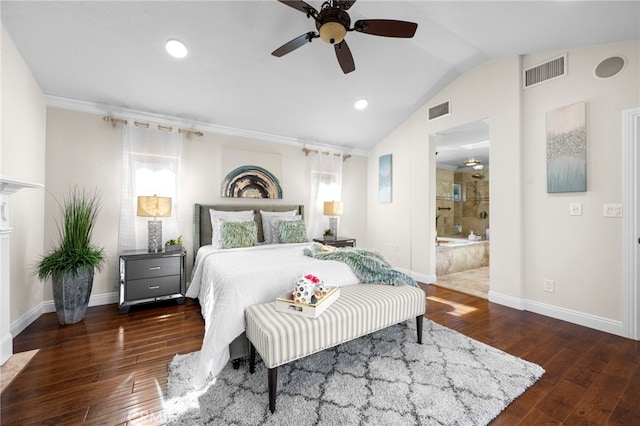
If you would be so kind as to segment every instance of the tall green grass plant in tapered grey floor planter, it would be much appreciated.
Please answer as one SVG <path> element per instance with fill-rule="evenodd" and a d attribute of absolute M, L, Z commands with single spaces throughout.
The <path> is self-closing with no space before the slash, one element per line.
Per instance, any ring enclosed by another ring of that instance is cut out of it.
<path fill-rule="evenodd" d="M 104 249 L 91 242 L 91 234 L 100 210 L 97 192 L 74 188 L 60 204 L 62 226 L 60 243 L 43 256 L 37 266 L 38 278 L 51 277 L 53 301 L 60 324 L 75 324 L 84 319 L 93 287 L 93 274 L 104 262 Z"/>

